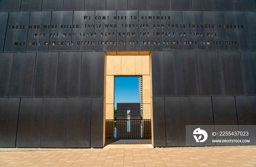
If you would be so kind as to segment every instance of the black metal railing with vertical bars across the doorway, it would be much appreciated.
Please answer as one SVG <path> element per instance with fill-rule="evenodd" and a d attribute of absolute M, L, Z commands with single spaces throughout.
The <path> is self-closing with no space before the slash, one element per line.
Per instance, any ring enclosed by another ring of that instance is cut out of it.
<path fill-rule="evenodd" d="M 151 138 L 151 119 L 106 119 L 106 138 Z"/>

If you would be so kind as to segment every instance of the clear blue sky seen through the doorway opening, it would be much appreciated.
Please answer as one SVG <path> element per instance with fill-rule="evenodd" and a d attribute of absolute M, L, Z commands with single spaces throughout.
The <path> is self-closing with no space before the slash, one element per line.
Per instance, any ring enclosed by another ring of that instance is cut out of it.
<path fill-rule="evenodd" d="M 116 103 L 139 103 L 138 77 L 115 77 L 114 107 Z"/>

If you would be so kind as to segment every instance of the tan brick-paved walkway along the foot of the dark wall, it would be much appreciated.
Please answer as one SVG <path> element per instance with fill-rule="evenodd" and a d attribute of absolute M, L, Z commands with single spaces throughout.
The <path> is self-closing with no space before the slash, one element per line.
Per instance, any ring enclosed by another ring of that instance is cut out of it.
<path fill-rule="evenodd" d="M 126 146 L 126 148 L 104 147 L 103 149 L 0 149 L 0 166 L 256 166 L 256 147 L 128 148 L 129 145 Z"/>

